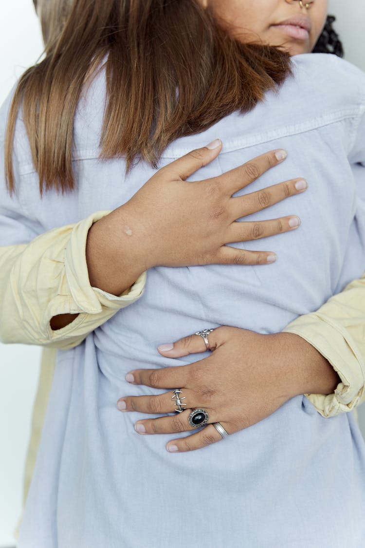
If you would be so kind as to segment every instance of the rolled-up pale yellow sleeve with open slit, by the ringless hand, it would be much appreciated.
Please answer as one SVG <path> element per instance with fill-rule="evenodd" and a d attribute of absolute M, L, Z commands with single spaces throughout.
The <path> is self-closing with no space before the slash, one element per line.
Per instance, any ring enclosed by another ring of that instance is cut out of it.
<path fill-rule="evenodd" d="M 109 212 L 45 232 L 30 243 L 0 247 L 0 340 L 68 349 L 80 344 L 118 310 L 139 299 L 146 272 L 120 296 L 90 286 L 86 238 L 91 225 Z M 78 314 L 53 331 L 50 320 Z"/>

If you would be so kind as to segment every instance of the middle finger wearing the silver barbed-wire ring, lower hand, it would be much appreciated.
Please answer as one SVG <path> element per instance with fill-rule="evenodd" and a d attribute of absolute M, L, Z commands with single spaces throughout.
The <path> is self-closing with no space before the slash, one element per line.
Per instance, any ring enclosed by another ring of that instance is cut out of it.
<path fill-rule="evenodd" d="M 194 407 L 194 393 L 182 389 L 177 394 L 182 408 Z M 140 413 L 173 413 L 176 412 L 176 395 L 173 391 L 158 396 L 125 396 L 120 398 L 117 407 L 120 411 L 138 411 Z M 125 407 L 123 406 L 123 403 Z"/>

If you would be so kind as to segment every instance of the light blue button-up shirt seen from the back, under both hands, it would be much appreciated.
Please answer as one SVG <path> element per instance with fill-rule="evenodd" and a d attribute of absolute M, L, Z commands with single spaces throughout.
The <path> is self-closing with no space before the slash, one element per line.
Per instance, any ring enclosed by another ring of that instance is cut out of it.
<path fill-rule="evenodd" d="M 127 201 L 154 173 L 123 159 L 101 161 L 105 76 L 80 99 L 74 128 L 77 190 L 41 199 L 21 118 L 15 166 L 21 211 L 1 188 L 3 209 L 36 234 Z M 293 77 L 252 112 L 234 113 L 204 133 L 181 138 L 160 165 L 219 137 L 221 155 L 192 180 L 208 178 L 265 151 L 287 160 L 241 191 L 298 176 L 309 189 L 255 214 L 298 214 L 302 226 L 270 241 L 269 266 L 155 268 L 146 292 L 75 349 L 59 351 L 19 548 L 362 548 L 365 545 L 365 444 L 352 413 L 330 419 L 304 396 L 222 443 L 170 454 L 172 435 L 139 436 L 141 414 L 121 414 L 135 368 L 191 363 L 156 347 L 221 325 L 281 330 L 316 310 L 365 270 L 365 75 L 331 55 L 293 58 Z M 3 129 L 2 129 L 3 131 Z M 240 194 L 238 193 L 238 194 Z M 5 226 L 5 224 L 3 224 Z M 10 245 L 0 219 L 0 243 Z M 10 238 L 11 239 L 11 238 Z M 222 367 L 224 365 L 222 364 Z M 143 415 L 145 417 L 145 415 Z M 186 433 L 182 434 L 186 435 Z"/>

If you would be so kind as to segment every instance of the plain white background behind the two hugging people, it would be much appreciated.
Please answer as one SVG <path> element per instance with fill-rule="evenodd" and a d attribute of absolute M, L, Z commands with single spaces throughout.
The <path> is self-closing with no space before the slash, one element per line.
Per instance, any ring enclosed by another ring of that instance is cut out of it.
<path fill-rule="evenodd" d="M 42 54 L 42 41 L 32 0 L 1 0 L 0 4 L 1 104 L 16 78 Z M 330 7 L 338 16 L 346 58 L 365 70 L 365 2 L 330 0 Z M 12 531 L 21 510 L 22 471 L 39 358 L 36 347 L 0 345 L 0 546 L 14 545 Z M 365 433 L 365 405 L 360 415 Z"/>

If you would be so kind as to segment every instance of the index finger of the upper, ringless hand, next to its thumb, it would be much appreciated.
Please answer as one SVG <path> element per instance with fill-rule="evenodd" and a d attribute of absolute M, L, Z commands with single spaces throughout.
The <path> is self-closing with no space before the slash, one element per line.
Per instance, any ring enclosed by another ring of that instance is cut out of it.
<path fill-rule="evenodd" d="M 246 162 L 243 165 L 230 171 L 219 175 L 216 178 L 222 185 L 227 187 L 230 195 L 244 189 L 251 182 L 256 181 L 261 175 L 263 175 L 269 169 L 280 164 L 287 157 L 285 150 L 272 150 L 266 152 L 257 158 L 253 158 L 250 162 Z"/>

